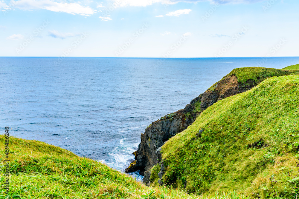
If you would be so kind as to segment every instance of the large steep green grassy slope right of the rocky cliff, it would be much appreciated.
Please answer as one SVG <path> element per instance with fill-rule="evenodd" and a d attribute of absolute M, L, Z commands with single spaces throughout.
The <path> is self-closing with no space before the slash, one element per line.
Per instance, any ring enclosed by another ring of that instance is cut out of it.
<path fill-rule="evenodd" d="M 287 75 L 213 104 L 162 146 L 164 182 L 187 182 L 192 193 L 298 198 L 298 96 L 299 75 Z"/>

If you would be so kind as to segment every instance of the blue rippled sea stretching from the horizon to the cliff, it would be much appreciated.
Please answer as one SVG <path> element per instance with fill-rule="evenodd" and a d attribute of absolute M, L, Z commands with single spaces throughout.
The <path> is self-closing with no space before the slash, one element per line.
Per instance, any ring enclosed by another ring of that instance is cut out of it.
<path fill-rule="evenodd" d="M 57 64 L 58 63 L 58 64 Z M 299 57 L 0 58 L 1 128 L 124 171 L 140 134 L 237 67 L 283 68 Z"/>

